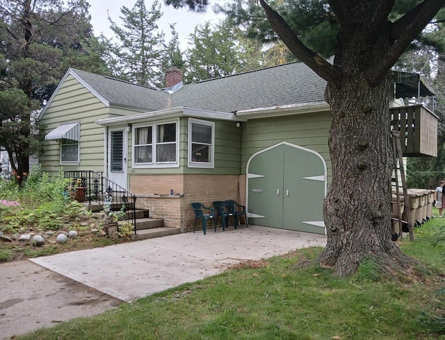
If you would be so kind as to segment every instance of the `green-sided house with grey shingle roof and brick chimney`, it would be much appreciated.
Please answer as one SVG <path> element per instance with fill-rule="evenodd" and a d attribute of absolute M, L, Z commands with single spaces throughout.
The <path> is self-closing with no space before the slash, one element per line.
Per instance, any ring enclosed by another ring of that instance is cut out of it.
<path fill-rule="evenodd" d="M 233 199 L 246 205 L 250 224 L 325 234 L 332 173 L 325 80 L 293 62 L 186 85 L 173 68 L 166 83 L 144 87 L 69 69 L 40 112 L 47 128 L 40 164 L 102 173 L 182 232 L 193 229 L 191 202 Z M 394 84 L 403 96 L 432 95 L 420 78 Z M 400 120 L 403 101 L 391 105 Z M 437 137 L 437 117 L 421 113 L 432 122 L 423 124 L 426 134 Z M 429 140 L 424 150 L 434 154 Z"/>

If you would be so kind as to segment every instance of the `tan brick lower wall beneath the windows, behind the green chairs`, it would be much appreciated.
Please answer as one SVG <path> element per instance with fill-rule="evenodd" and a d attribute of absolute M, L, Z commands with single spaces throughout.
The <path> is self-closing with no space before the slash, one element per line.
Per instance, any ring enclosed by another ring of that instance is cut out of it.
<path fill-rule="evenodd" d="M 170 189 L 174 195 L 170 196 Z M 150 217 L 164 219 L 165 226 L 193 230 L 192 202 L 210 206 L 213 201 L 245 203 L 245 176 L 238 175 L 133 175 L 130 190 L 138 196 L 136 206 Z M 200 229 L 200 221 L 198 221 Z"/>

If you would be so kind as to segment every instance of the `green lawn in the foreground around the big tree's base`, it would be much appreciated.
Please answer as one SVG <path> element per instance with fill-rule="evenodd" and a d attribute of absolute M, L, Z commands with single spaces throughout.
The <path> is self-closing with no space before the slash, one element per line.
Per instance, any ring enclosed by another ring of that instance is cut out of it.
<path fill-rule="evenodd" d="M 445 339 L 441 221 L 398 241 L 428 269 L 416 282 L 380 278 L 370 258 L 337 278 L 306 248 L 17 339 Z"/>

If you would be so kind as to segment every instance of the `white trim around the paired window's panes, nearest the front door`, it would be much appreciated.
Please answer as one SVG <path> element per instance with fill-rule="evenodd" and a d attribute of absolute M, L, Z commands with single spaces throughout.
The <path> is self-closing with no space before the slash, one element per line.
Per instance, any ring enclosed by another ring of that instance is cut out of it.
<path fill-rule="evenodd" d="M 156 162 L 156 152 L 157 152 L 157 133 L 158 129 L 157 126 L 164 125 L 164 124 L 176 124 L 176 161 L 175 162 Z M 134 159 L 134 155 L 136 155 L 135 152 L 135 144 L 136 144 L 136 128 L 145 128 L 147 126 L 152 126 L 152 162 L 151 163 L 136 163 L 136 160 Z M 147 169 L 147 168 L 177 168 L 179 167 L 179 119 L 175 120 L 167 120 L 167 121 L 156 121 L 152 124 L 133 124 L 133 128 L 131 130 L 131 151 L 133 155 L 133 159 L 131 160 L 131 166 L 134 169 Z"/>

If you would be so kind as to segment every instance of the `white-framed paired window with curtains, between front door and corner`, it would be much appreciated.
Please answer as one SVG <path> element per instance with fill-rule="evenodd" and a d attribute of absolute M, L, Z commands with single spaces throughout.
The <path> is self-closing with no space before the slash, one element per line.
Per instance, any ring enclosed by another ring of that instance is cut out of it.
<path fill-rule="evenodd" d="M 177 167 L 177 121 L 135 126 L 133 164 L 135 167 Z"/>

